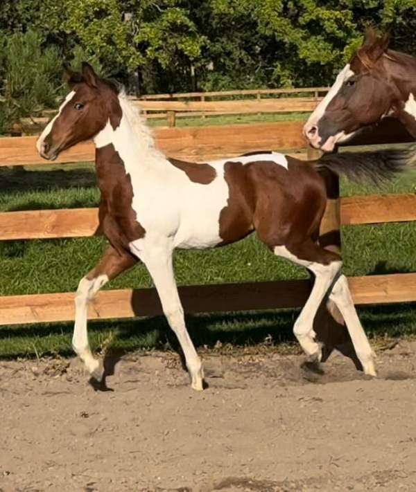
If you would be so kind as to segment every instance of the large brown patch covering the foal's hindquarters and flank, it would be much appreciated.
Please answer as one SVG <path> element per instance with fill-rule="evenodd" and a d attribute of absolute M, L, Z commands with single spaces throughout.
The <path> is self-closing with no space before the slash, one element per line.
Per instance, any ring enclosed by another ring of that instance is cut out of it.
<path fill-rule="evenodd" d="M 315 246 L 326 203 L 324 179 L 312 165 L 286 158 L 288 170 L 273 161 L 225 163 L 229 199 L 220 212 L 219 246 L 255 229 L 270 249 L 284 245 L 298 258 L 333 261 L 332 253 Z"/>

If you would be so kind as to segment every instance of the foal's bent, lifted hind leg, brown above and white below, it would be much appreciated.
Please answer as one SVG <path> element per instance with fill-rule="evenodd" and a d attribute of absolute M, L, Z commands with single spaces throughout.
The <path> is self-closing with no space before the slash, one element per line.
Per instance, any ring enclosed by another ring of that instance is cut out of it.
<path fill-rule="evenodd" d="M 315 282 L 308 300 L 293 327 L 293 333 L 310 358 L 320 361 L 322 351 L 315 341 L 313 320 L 320 304 L 340 271 L 342 262 L 336 253 L 325 250 L 308 239 L 302 244 L 275 246 L 275 255 L 290 259 L 293 263 L 306 266 L 315 275 Z"/>

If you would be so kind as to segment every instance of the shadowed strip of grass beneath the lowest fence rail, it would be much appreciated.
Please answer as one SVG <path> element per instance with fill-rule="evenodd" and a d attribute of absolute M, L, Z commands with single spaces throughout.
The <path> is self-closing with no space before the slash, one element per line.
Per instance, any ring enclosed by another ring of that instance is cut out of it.
<path fill-rule="evenodd" d="M 416 305 L 415 304 L 391 304 L 377 307 L 362 307 L 358 309 L 359 316 L 365 330 L 372 336 L 397 337 L 416 333 Z M 187 316 L 189 334 L 196 347 L 212 348 L 218 342 L 221 345 L 234 347 L 255 347 L 265 343 L 277 345 L 295 343 L 293 336 L 293 323 L 297 317 L 295 310 L 287 311 L 262 311 L 251 313 L 219 313 L 215 315 Z M 19 327 L 1 327 L 1 340 L 10 338 L 28 338 L 29 340 L 46 340 L 48 337 L 64 336 L 67 338 L 67 346 L 61 347 L 58 354 L 61 356 L 73 356 L 70 340 L 73 325 L 51 324 L 31 325 Z M 154 318 L 137 318 L 135 320 L 102 322 L 90 321 L 88 330 L 94 345 L 96 339 L 103 332 L 111 330 L 114 340 L 110 343 L 108 354 L 111 357 L 119 357 L 122 354 L 137 349 L 173 349 L 180 352 L 175 334 L 168 327 L 163 316 Z M 17 345 L 14 352 L 2 358 L 16 358 L 18 356 L 35 357 L 35 345 L 31 342 L 21 348 Z M 98 344 L 99 345 L 99 344 Z M 42 355 L 51 354 L 45 352 Z M 52 353 L 56 355 L 57 352 Z"/>

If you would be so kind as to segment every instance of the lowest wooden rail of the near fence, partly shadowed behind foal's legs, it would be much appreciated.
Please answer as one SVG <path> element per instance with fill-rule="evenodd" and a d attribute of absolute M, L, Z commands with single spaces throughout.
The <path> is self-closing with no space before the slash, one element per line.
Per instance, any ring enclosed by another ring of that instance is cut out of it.
<path fill-rule="evenodd" d="M 349 279 L 356 304 L 416 301 L 416 273 Z M 309 295 L 307 280 L 180 287 L 187 313 L 300 307 Z M 156 316 L 162 308 L 155 289 L 101 291 L 89 307 L 90 319 Z M 73 293 L 10 295 L 0 298 L 0 325 L 71 321 Z"/>

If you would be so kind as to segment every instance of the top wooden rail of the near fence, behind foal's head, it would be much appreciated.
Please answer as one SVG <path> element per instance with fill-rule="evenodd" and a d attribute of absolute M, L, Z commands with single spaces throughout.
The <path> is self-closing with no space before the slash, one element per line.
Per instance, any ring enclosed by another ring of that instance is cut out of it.
<path fill-rule="evenodd" d="M 254 150 L 284 150 L 305 147 L 302 122 L 275 122 L 227 127 L 155 129 L 156 143 L 166 155 L 186 161 L 210 161 Z M 51 164 L 36 151 L 35 136 L 0 138 L 0 166 Z M 71 147 L 53 163 L 94 161 L 91 142 Z"/>

